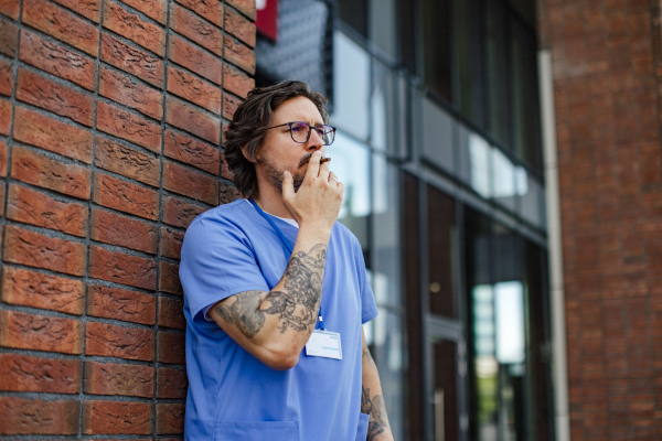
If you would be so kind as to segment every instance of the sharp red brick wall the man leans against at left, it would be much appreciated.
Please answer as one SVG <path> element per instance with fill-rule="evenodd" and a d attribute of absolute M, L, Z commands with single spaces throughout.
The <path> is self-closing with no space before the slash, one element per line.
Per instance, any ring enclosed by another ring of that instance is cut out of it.
<path fill-rule="evenodd" d="M 178 259 L 234 200 L 253 0 L 0 0 L 0 439 L 182 433 Z"/>

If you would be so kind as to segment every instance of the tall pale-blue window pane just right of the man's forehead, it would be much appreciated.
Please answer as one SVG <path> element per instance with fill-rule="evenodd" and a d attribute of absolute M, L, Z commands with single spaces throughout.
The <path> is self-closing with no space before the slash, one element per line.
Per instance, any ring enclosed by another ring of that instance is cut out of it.
<path fill-rule="evenodd" d="M 342 32 L 333 40 L 332 123 L 367 140 L 370 129 L 370 56 Z"/>

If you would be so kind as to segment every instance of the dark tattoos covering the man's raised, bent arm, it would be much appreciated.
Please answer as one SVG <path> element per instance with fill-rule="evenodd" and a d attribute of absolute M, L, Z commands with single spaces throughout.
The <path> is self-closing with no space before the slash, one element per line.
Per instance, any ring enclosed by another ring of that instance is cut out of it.
<path fill-rule="evenodd" d="M 214 310 L 248 338 L 261 330 L 265 314 L 278 315 L 281 334 L 288 329 L 306 331 L 317 321 L 325 261 L 325 245 L 316 245 L 309 252 L 296 252 L 285 270 L 285 291 L 239 292 L 229 306 L 218 304 Z M 260 309 L 263 300 L 268 300 L 270 305 Z"/>

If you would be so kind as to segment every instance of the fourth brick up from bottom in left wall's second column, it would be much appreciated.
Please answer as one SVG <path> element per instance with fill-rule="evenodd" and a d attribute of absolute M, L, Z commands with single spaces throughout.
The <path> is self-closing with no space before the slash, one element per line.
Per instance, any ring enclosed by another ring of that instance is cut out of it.
<path fill-rule="evenodd" d="M 157 319 L 157 300 L 138 291 L 90 284 L 87 315 L 152 325 Z"/>

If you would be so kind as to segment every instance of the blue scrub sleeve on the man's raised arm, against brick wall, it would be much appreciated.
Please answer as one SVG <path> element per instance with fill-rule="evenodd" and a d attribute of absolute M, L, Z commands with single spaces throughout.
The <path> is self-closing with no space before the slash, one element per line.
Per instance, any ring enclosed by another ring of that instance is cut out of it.
<path fill-rule="evenodd" d="M 203 326 L 212 324 L 201 313 L 207 306 L 238 292 L 269 290 L 245 233 L 207 213 L 195 218 L 184 235 L 179 271 L 188 312 Z"/>

